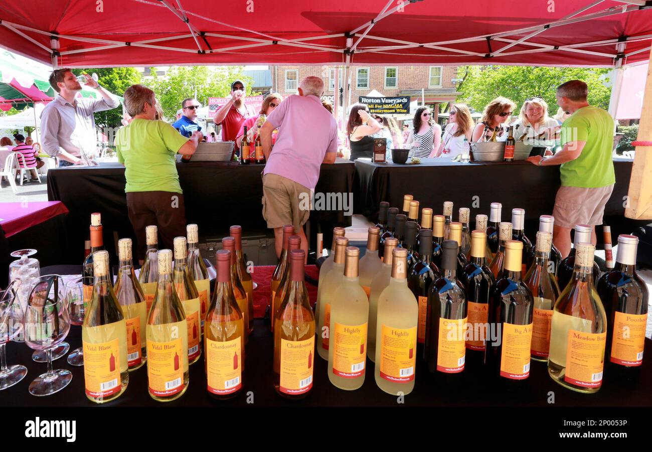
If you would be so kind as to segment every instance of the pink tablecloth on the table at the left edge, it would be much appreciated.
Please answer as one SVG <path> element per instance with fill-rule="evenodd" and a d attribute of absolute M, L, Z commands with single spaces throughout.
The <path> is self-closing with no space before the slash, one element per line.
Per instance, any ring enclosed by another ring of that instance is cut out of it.
<path fill-rule="evenodd" d="M 57 215 L 67 215 L 61 201 L 3 202 L 0 203 L 0 224 L 5 235 L 11 237 Z"/>

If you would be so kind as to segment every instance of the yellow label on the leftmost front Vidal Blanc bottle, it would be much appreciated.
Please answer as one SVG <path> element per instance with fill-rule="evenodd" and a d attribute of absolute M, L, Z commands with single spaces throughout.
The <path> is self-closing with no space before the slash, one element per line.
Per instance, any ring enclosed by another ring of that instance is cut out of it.
<path fill-rule="evenodd" d="M 124 320 L 121 320 L 124 325 Z M 119 323 L 119 322 L 116 322 Z M 83 342 L 83 376 L 86 395 L 109 397 L 119 393 L 120 346 L 117 338 L 93 344 Z"/>

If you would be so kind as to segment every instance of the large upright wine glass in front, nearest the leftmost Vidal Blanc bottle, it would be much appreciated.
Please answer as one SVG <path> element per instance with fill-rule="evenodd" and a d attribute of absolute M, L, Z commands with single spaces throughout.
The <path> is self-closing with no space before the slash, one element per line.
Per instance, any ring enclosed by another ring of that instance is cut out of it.
<path fill-rule="evenodd" d="M 70 370 L 52 370 L 52 351 L 70 331 L 65 285 L 59 275 L 39 277 L 29 294 L 23 316 L 25 343 L 34 350 L 43 350 L 48 372 L 40 374 L 29 385 L 29 393 L 44 396 L 61 391 L 70 384 Z"/>

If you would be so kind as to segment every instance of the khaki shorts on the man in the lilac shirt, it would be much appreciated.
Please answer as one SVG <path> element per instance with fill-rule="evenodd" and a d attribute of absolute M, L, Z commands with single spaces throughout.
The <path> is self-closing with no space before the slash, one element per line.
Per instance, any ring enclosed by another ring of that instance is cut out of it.
<path fill-rule="evenodd" d="M 298 231 L 308 217 L 310 188 L 278 174 L 263 175 L 263 218 L 268 228 L 291 224 Z"/>

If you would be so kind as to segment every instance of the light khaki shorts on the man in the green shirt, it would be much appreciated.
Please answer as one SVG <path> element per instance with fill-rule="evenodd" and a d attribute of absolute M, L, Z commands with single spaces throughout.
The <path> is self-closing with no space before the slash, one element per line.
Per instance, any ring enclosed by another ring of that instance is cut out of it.
<path fill-rule="evenodd" d="M 604 205 L 613 191 L 613 184 L 598 188 L 559 187 L 552 211 L 555 226 L 572 229 L 576 224 L 602 224 Z"/>

